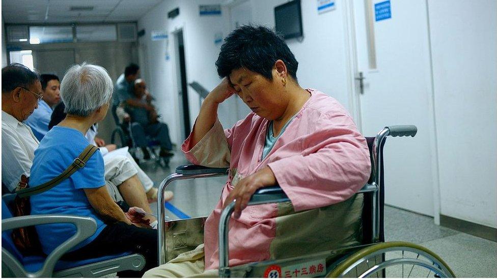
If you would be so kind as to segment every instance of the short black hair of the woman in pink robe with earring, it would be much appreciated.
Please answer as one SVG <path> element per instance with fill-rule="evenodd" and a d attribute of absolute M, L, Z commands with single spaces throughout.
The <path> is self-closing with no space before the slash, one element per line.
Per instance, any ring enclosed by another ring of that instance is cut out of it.
<path fill-rule="evenodd" d="M 265 26 L 244 25 L 233 30 L 221 46 L 217 74 L 224 78 L 233 70 L 246 68 L 272 80 L 271 70 L 278 59 L 296 81 L 298 62 L 283 37 Z"/>

